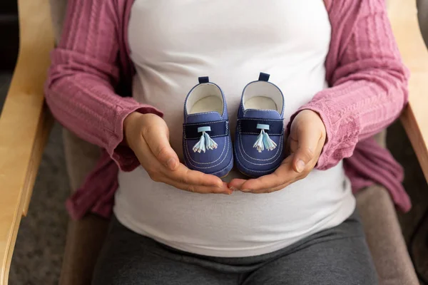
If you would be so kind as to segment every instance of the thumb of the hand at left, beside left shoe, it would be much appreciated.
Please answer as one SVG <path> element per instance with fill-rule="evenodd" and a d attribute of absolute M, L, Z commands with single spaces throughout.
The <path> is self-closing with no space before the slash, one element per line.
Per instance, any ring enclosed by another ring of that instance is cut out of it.
<path fill-rule="evenodd" d="M 151 126 L 143 130 L 143 137 L 146 140 L 151 152 L 162 165 L 169 170 L 175 170 L 178 167 L 178 155 L 170 146 L 168 140 L 168 129 L 164 125 L 158 127 Z"/>

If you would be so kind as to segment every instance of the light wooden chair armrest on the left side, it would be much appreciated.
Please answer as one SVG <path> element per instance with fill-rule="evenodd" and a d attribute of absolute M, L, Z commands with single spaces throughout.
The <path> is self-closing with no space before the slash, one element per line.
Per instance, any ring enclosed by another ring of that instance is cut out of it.
<path fill-rule="evenodd" d="M 19 0 L 19 58 L 0 117 L 0 284 L 9 268 L 22 214 L 53 119 L 44 105 L 54 48 L 49 1 Z"/>

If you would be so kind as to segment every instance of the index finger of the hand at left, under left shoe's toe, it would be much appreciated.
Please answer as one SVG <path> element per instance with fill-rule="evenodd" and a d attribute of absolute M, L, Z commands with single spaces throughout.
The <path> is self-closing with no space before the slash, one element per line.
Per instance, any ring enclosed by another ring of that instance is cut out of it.
<path fill-rule="evenodd" d="M 185 185 L 223 187 L 223 181 L 219 177 L 190 170 L 182 163 L 179 163 L 177 169 L 174 171 L 163 170 L 163 174 L 169 179 Z"/>

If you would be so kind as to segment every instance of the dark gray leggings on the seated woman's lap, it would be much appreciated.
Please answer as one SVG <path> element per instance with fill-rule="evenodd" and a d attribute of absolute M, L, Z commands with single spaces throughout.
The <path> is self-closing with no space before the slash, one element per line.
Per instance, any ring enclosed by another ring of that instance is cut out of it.
<path fill-rule="evenodd" d="M 143 237 L 113 218 L 93 285 L 377 284 L 357 213 L 332 229 L 256 257 L 204 257 Z"/>

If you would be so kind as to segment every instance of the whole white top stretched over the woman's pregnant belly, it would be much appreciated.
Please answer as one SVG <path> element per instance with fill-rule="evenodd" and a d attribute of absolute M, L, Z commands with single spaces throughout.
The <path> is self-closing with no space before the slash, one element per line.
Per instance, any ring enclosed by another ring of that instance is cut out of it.
<path fill-rule="evenodd" d="M 327 87 L 330 22 L 322 0 L 136 0 L 128 30 L 133 96 L 163 110 L 180 157 L 183 104 L 198 76 L 223 89 L 233 130 L 242 90 L 260 71 L 285 95 L 285 123 Z M 335 227 L 355 209 L 342 163 L 262 195 L 184 192 L 153 182 L 142 167 L 118 180 L 114 212 L 121 223 L 208 256 L 274 252 Z"/>

